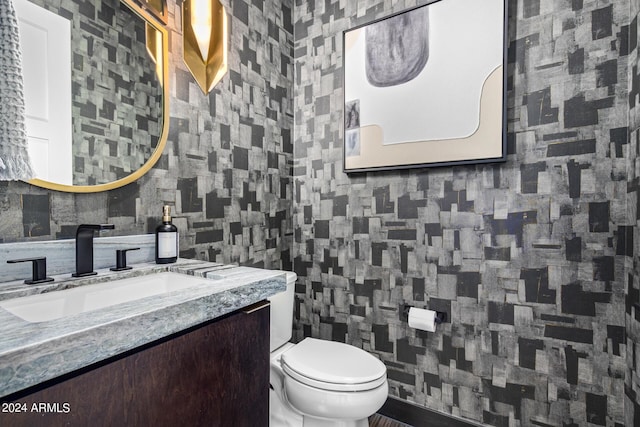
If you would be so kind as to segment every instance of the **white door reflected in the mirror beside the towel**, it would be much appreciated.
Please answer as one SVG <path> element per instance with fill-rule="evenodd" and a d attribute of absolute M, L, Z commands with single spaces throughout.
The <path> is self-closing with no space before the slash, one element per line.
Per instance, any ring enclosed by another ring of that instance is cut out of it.
<path fill-rule="evenodd" d="M 37 178 L 72 185 L 71 23 L 28 0 L 14 6 L 31 164 Z"/>

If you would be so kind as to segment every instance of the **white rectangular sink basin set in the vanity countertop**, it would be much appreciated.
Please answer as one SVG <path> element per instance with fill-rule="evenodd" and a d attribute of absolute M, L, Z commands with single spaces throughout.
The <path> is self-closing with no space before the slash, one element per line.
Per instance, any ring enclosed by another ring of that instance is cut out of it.
<path fill-rule="evenodd" d="M 0 301 L 0 307 L 27 322 L 46 322 L 206 282 L 202 277 L 164 272 L 14 298 Z"/>

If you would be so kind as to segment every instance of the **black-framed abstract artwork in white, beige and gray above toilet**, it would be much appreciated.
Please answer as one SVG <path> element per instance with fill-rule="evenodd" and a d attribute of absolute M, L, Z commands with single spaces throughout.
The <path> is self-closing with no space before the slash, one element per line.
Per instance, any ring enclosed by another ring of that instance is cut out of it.
<path fill-rule="evenodd" d="M 344 170 L 506 159 L 507 0 L 437 0 L 347 30 Z"/>

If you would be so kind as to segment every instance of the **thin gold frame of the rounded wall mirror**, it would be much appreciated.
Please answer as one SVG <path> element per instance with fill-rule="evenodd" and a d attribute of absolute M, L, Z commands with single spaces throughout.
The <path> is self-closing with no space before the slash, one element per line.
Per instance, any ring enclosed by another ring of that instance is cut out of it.
<path fill-rule="evenodd" d="M 160 38 L 162 39 L 162 46 L 158 47 L 156 38 L 147 38 L 147 50 L 149 51 L 150 56 L 153 61 L 159 60 L 161 62 L 161 64 L 156 62 L 156 71 L 162 72 L 162 79 L 160 79 L 160 85 L 162 86 L 162 131 L 158 138 L 158 145 L 156 146 L 156 149 L 151 157 L 138 170 L 124 178 L 106 184 L 66 185 L 38 178 L 31 179 L 27 181 L 27 183 L 37 187 L 47 188 L 49 190 L 64 191 L 68 193 L 99 193 L 102 191 L 120 188 L 138 180 L 141 176 L 147 173 L 156 164 L 158 159 L 160 159 L 160 156 L 162 156 L 162 152 L 164 151 L 164 147 L 169 136 L 169 35 L 164 27 L 158 25 L 157 21 L 146 10 L 138 6 L 132 0 L 120 0 L 120 2 L 127 5 L 145 21 L 147 34 L 152 32 L 152 28 L 157 32 L 156 34 L 160 34 Z M 158 78 L 160 78 L 160 76 L 158 76 Z"/>

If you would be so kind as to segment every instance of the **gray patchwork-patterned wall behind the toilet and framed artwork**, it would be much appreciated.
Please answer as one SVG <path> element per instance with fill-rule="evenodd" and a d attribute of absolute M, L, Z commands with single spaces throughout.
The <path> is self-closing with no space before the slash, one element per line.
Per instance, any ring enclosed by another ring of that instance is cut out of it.
<path fill-rule="evenodd" d="M 296 1 L 296 338 L 487 425 L 624 425 L 629 2 L 509 2 L 505 164 L 347 176 L 342 31 L 424 3 Z M 410 329 L 403 304 L 451 323 Z"/>

